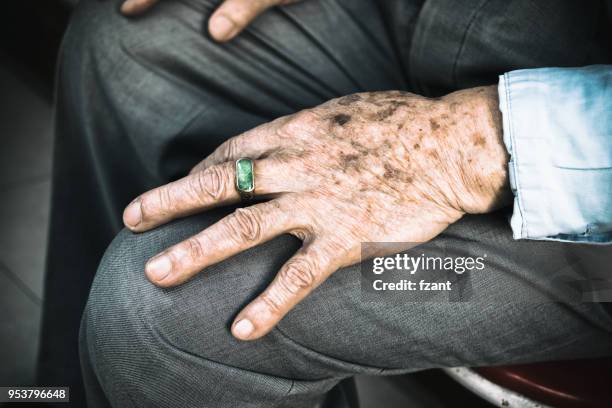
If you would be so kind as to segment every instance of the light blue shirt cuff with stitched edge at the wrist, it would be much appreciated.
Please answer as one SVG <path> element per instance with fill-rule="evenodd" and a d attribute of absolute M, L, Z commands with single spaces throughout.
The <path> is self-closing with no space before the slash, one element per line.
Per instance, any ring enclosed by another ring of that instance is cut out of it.
<path fill-rule="evenodd" d="M 516 239 L 612 243 L 612 65 L 499 80 Z"/>

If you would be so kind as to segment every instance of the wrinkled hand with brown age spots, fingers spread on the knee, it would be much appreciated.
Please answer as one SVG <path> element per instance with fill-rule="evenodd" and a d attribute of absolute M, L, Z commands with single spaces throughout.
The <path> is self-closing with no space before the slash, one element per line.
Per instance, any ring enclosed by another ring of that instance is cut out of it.
<path fill-rule="evenodd" d="M 269 200 L 238 209 L 145 269 L 170 287 L 295 235 L 303 247 L 232 326 L 237 338 L 256 339 L 332 273 L 359 262 L 362 242 L 425 242 L 465 213 L 508 202 L 497 105 L 493 86 L 441 99 L 396 91 L 335 99 L 228 140 L 187 177 L 134 200 L 124 222 L 145 231 L 235 203 L 234 161 L 254 159 L 255 195 Z"/>

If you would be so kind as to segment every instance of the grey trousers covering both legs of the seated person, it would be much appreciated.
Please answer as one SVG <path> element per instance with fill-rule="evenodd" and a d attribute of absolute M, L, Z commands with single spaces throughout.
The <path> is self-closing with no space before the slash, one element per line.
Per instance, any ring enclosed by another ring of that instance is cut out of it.
<path fill-rule="evenodd" d="M 74 282 L 76 299 L 87 293 L 131 198 L 228 137 L 358 91 L 436 96 L 510 69 L 612 60 L 604 2 L 308 0 L 266 13 L 226 45 L 205 32 L 218 3 L 162 1 L 132 21 L 118 0 L 79 5 L 59 66 L 46 316 L 64 316 Z M 239 342 L 232 318 L 296 239 L 281 236 L 174 289 L 143 274 L 149 257 L 228 211 L 114 239 L 81 326 L 91 407 L 343 407 L 353 398 L 337 384 L 357 373 L 612 354 L 600 304 L 363 302 L 358 267 L 334 274 L 265 338 Z M 472 287 L 507 300 L 576 248 L 513 241 L 502 213 L 465 217 L 436 240 L 488 252 L 496 279 L 473 275 Z M 76 303 L 66 316 L 80 313 Z M 46 321 L 52 339 L 57 325 Z M 73 321 L 63 324 L 72 333 Z M 48 367 L 54 353 L 71 355 L 69 345 L 43 343 Z"/>

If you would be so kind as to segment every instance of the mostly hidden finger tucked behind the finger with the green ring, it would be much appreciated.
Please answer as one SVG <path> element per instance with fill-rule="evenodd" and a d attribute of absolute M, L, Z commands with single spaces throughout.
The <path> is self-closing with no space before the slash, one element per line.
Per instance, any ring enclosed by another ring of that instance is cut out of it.
<path fill-rule="evenodd" d="M 189 174 L 202 171 L 215 164 L 235 161 L 241 157 L 259 159 L 280 147 L 280 138 L 276 129 L 287 120 L 276 119 L 248 130 L 223 142 L 208 157 L 191 169 Z"/>

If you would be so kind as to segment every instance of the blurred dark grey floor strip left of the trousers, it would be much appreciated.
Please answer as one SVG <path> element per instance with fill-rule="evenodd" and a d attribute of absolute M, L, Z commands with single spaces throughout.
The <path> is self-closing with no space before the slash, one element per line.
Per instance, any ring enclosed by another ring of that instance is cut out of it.
<path fill-rule="evenodd" d="M 0 55 L 2 385 L 34 381 L 49 217 L 51 104 L 25 72 Z"/>

